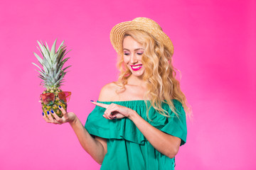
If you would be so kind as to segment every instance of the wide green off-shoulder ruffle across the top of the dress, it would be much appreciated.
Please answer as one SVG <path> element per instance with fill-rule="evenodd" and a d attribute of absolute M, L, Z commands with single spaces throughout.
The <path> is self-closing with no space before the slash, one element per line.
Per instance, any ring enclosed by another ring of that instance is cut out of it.
<path fill-rule="evenodd" d="M 181 138 L 181 145 L 186 142 L 186 114 L 182 108 L 181 103 L 174 100 L 174 106 L 179 112 L 177 117 L 171 112 L 171 109 L 166 104 L 166 111 L 169 111 L 171 117 L 166 118 L 159 113 L 156 113 L 154 108 L 149 109 L 149 118 L 146 116 L 146 105 L 144 101 L 114 101 L 114 102 L 100 102 L 99 103 L 116 103 L 127 108 L 132 108 L 134 111 L 144 118 L 147 122 L 153 125 L 155 128 Z M 168 107 L 167 107 L 168 106 Z M 102 115 L 105 112 L 105 108 L 95 106 L 95 109 L 88 115 L 85 123 L 85 129 L 91 134 L 107 139 L 119 139 L 128 140 L 139 145 L 144 145 L 146 138 L 139 131 L 136 125 L 129 120 L 129 118 L 109 120 Z"/>

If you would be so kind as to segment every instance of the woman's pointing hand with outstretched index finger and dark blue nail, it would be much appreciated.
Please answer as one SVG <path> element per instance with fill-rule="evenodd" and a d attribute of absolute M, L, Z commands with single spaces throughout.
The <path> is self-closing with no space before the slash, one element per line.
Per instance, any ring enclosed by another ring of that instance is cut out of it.
<path fill-rule="evenodd" d="M 106 119 L 115 119 L 115 118 L 130 118 L 132 114 L 136 113 L 136 111 L 131 108 L 127 108 L 124 106 L 117 105 L 115 103 L 105 104 L 105 103 L 97 103 L 95 101 L 91 101 L 92 104 L 100 106 L 102 108 L 106 108 L 103 117 Z"/>

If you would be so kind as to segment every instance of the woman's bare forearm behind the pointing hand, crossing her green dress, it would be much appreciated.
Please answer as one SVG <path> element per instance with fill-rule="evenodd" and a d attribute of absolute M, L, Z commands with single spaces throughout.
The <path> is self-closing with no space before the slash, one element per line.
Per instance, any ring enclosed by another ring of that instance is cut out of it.
<path fill-rule="evenodd" d="M 178 137 L 166 134 L 161 130 L 154 128 L 146 120 L 144 120 L 137 113 L 129 117 L 137 128 L 142 132 L 146 140 L 159 152 L 167 157 L 173 158 L 178 153 L 178 148 L 181 140 Z"/>

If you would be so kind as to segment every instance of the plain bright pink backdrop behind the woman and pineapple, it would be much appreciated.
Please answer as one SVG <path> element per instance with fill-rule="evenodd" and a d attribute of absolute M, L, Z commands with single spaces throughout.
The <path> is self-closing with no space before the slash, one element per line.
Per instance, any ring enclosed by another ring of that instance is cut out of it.
<path fill-rule="evenodd" d="M 100 169 L 70 125 L 43 120 L 33 52 L 36 40 L 65 40 L 73 67 L 63 90 L 72 91 L 68 110 L 85 123 L 90 100 L 117 79 L 110 30 L 138 16 L 174 42 L 193 107 L 176 169 L 256 169 L 255 11 L 255 0 L 1 1 L 0 169 Z"/>

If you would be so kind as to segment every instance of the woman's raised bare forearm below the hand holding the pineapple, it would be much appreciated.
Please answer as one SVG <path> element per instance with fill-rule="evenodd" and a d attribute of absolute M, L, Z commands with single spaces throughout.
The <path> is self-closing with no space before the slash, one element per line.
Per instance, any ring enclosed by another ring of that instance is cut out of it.
<path fill-rule="evenodd" d="M 70 122 L 70 125 L 73 128 L 75 135 L 77 135 L 83 149 L 85 149 L 98 164 L 101 164 L 105 157 L 105 150 L 102 144 L 87 132 L 77 117 L 75 117 L 73 122 Z"/>

